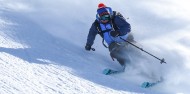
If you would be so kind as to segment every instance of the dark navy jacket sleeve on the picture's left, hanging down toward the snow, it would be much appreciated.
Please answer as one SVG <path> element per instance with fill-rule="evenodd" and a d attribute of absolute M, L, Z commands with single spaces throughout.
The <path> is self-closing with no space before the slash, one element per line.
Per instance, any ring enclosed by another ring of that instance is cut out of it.
<path fill-rule="evenodd" d="M 94 40 L 97 34 L 98 31 L 96 30 L 95 23 L 93 23 L 88 33 L 86 45 L 92 46 L 94 44 Z"/>

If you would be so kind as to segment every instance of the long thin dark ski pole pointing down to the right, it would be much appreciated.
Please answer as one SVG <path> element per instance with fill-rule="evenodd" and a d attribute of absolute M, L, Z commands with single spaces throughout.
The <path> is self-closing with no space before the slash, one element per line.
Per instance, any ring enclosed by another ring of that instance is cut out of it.
<path fill-rule="evenodd" d="M 137 45 L 135 45 L 135 44 L 129 42 L 128 40 L 125 40 L 125 39 L 123 39 L 123 38 L 121 38 L 121 37 L 120 37 L 120 39 L 122 39 L 123 41 L 125 41 L 125 42 L 127 42 L 127 43 L 133 45 L 134 47 L 138 48 L 139 50 L 141 50 L 141 51 L 143 51 L 143 52 L 149 54 L 150 56 L 152 56 L 152 57 L 154 57 L 154 58 L 160 60 L 160 63 L 161 63 L 161 64 L 162 64 L 162 63 L 166 63 L 165 60 L 164 60 L 164 58 L 163 58 L 163 59 L 160 59 L 160 58 L 156 57 L 155 55 L 153 55 L 153 54 L 151 54 L 151 53 L 145 51 L 143 48 L 140 48 L 140 47 L 138 47 Z"/>

